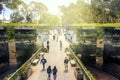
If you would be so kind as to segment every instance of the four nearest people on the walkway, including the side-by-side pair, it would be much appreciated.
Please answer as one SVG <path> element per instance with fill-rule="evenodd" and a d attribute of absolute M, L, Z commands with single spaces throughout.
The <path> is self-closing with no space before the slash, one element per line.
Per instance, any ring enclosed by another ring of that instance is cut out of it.
<path fill-rule="evenodd" d="M 65 57 L 65 59 L 64 59 L 65 71 L 68 71 L 68 62 L 69 62 L 69 60 L 67 59 L 67 57 Z M 43 71 L 44 71 L 47 60 L 43 57 L 41 59 L 40 63 L 42 63 Z M 51 66 L 49 65 L 47 68 L 48 80 L 50 80 L 50 78 L 51 78 L 51 73 L 53 73 L 53 78 L 54 78 L 54 80 L 56 80 L 57 72 L 58 72 L 58 70 L 57 70 L 56 66 L 54 66 L 54 68 L 51 69 Z"/>

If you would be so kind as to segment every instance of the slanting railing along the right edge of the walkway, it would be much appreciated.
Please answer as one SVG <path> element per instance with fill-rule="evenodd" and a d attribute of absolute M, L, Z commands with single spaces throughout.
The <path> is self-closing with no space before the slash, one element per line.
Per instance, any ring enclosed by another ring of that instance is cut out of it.
<path fill-rule="evenodd" d="M 72 53 L 73 57 L 75 58 L 76 62 L 78 63 L 78 66 L 81 68 L 83 74 L 85 75 L 86 80 L 95 80 L 93 75 L 87 70 L 87 68 L 83 65 L 83 63 L 80 61 L 80 59 L 75 55 L 75 53 L 72 51 L 71 48 L 69 48 L 70 53 Z"/>

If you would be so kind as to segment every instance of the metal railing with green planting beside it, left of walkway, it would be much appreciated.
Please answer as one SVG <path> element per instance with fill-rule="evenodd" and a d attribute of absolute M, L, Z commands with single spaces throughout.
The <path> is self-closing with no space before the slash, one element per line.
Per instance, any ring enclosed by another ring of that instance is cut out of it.
<path fill-rule="evenodd" d="M 16 72 L 14 72 L 7 80 L 18 80 L 18 77 L 21 77 L 23 71 L 30 67 L 31 61 L 33 61 L 37 56 L 38 53 L 40 52 L 41 48 L 39 48 L 33 55 L 32 57 L 27 60 L 19 69 L 17 69 Z"/>

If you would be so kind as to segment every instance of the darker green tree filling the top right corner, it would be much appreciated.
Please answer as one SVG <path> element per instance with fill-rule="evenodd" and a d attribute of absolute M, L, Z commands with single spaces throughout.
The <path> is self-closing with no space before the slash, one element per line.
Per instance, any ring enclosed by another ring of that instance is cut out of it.
<path fill-rule="evenodd" d="M 120 22 L 120 2 L 118 0 L 92 0 L 91 9 L 94 22 Z"/>

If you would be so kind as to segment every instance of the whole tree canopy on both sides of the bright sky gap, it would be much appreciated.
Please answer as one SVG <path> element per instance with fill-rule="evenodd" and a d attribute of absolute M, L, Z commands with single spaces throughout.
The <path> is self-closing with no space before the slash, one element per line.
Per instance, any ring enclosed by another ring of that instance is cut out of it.
<path fill-rule="evenodd" d="M 77 0 L 68 6 L 60 6 L 61 21 L 57 15 L 50 14 L 48 8 L 41 2 L 31 1 L 29 4 L 22 0 L 0 1 L 0 13 L 3 4 L 12 10 L 10 16 L 13 23 L 44 23 L 44 24 L 79 24 L 79 23 L 119 23 L 119 0 Z"/>

